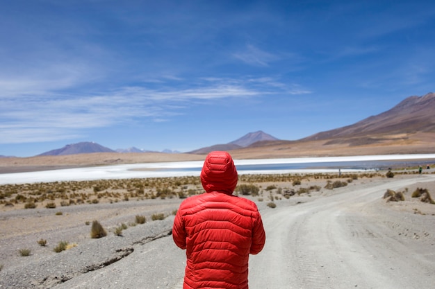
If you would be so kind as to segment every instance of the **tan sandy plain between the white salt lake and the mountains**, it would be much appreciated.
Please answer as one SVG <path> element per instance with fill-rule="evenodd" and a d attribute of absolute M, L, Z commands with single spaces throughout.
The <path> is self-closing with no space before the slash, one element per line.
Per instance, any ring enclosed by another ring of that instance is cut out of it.
<path fill-rule="evenodd" d="M 268 146 L 230 150 L 233 159 L 279 159 L 293 157 L 340 157 L 354 155 L 407 155 L 435 153 L 433 143 L 435 134 L 409 134 L 407 140 L 387 140 L 379 143 L 360 143 L 350 146 L 349 143 L 327 144 L 328 141 L 282 141 Z M 97 152 L 81 155 L 12 157 L 0 158 L 0 173 L 17 173 L 56 168 L 77 168 L 83 166 L 104 166 L 112 164 L 138 164 L 161 161 L 198 161 L 204 155 L 166 154 L 160 152 L 147 153 L 107 153 Z"/>

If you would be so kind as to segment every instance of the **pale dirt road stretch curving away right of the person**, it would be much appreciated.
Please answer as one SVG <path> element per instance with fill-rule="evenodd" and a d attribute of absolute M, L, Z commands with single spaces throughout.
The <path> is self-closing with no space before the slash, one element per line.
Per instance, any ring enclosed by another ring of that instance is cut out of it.
<path fill-rule="evenodd" d="M 267 244 L 251 258 L 249 288 L 434 288 L 434 217 L 413 224 L 413 215 L 379 203 L 386 189 L 415 182 L 422 179 L 265 211 Z"/>

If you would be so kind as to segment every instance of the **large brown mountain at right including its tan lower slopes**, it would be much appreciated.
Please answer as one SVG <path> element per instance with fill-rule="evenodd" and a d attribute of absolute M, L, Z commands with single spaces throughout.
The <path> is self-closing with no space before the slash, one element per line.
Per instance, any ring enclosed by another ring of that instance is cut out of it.
<path fill-rule="evenodd" d="M 260 141 L 233 157 L 315 157 L 435 152 L 435 94 L 410 96 L 391 110 L 297 141 Z"/>

